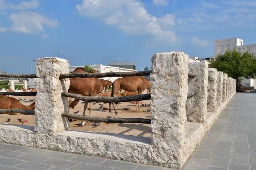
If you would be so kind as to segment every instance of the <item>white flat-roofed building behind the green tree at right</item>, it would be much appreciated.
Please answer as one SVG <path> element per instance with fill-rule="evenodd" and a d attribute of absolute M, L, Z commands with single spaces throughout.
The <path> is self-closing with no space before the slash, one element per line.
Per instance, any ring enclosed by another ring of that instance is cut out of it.
<path fill-rule="evenodd" d="M 227 38 L 214 40 L 214 51 L 213 58 L 215 59 L 217 54 L 224 53 L 227 50 L 232 50 L 236 47 L 239 51 L 245 52 L 249 51 L 250 53 L 256 52 L 256 44 L 253 45 L 243 45 L 243 40 L 239 38 Z M 244 79 L 241 82 L 242 85 L 246 87 L 254 87 L 256 89 L 256 80 L 255 79 Z"/>

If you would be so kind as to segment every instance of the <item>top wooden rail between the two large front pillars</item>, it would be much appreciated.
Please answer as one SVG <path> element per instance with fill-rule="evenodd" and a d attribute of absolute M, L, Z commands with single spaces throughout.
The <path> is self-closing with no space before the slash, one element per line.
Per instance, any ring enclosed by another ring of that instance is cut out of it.
<path fill-rule="evenodd" d="M 150 75 L 151 70 L 148 71 L 131 71 L 131 72 L 108 72 L 108 73 L 69 73 L 69 74 L 61 74 L 60 79 L 67 78 L 88 78 L 88 77 L 130 77 L 130 76 L 148 76 Z"/>

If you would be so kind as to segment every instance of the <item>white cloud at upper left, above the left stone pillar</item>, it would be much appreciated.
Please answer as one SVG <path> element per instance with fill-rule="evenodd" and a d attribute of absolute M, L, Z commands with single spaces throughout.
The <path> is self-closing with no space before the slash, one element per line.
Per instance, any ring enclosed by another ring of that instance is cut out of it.
<path fill-rule="evenodd" d="M 58 20 L 46 18 L 42 14 L 35 12 L 20 12 L 20 14 L 12 13 L 9 20 L 13 22 L 11 30 L 23 34 L 39 34 L 44 33 L 43 26 L 55 28 L 58 26 Z"/>

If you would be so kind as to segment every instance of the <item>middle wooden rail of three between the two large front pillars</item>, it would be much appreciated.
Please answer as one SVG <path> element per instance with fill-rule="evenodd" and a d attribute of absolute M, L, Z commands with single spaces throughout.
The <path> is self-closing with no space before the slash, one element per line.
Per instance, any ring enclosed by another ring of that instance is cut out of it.
<path fill-rule="evenodd" d="M 151 94 L 141 94 L 141 95 L 134 95 L 134 96 L 122 96 L 122 97 L 98 97 L 98 96 L 82 96 L 80 94 L 72 94 L 62 92 L 62 96 L 65 97 L 72 97 L 84 102 L 108 102 L 108 103 L 118 103 L 118 102 L 133 102 L 133 101 L 140 101 L 140 100 L 150 100 Z"/>

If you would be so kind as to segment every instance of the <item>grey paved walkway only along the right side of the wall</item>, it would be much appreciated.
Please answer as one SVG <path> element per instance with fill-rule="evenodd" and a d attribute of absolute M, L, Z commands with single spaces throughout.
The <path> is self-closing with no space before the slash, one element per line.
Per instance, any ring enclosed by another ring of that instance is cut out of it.
<path fill-rule="evenodd" d="M 235 94 L 184 170 L 256 170 L 256 92 Z"/>

